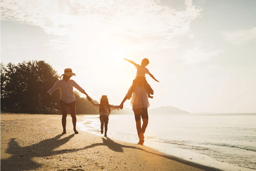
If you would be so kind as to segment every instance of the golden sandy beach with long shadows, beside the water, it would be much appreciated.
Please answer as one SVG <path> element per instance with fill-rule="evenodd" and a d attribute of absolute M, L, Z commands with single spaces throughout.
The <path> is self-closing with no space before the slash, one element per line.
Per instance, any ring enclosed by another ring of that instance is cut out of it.
<path fill-rule="evenodd" d="M 67 134 L 61 132 L 61 115 L 2 113 L 1 170 L 217 170 L 143 145 L 75 135 L 70 116 Z"/>

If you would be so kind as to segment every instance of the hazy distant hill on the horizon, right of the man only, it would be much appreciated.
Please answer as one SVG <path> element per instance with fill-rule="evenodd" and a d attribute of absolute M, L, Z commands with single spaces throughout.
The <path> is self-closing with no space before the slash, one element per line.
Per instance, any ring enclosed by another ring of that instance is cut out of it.
<path fill-rule="evenodd" d="M 149 114 L 189 114 L 187 111 L 183 111 L 173 106 L 162 106 L 148 110 Z"/>

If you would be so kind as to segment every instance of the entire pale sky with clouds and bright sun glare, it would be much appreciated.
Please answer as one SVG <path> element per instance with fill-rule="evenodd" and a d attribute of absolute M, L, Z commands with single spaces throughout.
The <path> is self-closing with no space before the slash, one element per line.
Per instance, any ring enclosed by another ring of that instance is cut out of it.
<path fill-rule="evenodd" d="M 256 112 L 255 7 L 254 0 L 1 0 L 1 62 L 45 60 L 60 75 L 72 68 L 71 79 L 93 99 L 108 95 L 118 105 L 136 76 L 123 58 L 148 58 L 159 81 L 146 76 L 151 108 Z"/>

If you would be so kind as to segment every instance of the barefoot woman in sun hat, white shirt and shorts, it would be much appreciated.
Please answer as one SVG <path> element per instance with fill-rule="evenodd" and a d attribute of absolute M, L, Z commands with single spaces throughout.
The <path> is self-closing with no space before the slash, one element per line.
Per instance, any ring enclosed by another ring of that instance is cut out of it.
<path fill-rule="evenodd" d="M 64 70 L 64 74 L 62 74 L 63 78 L 61 80 L 58 80 L 54 86 L 46 93 L 46 95 L 41 99 L 41 103 L 44 103 L 44 100 L 51 95 L 52 92 L 54 92 L 56 89 L 60 89 L 60 107 L 62 111 L 62 127 L 63 127 L 63 134 L 66 134 L 66 122 L 67 122 L 67 107 L 70 109 L 70 114 L 72 117 L 72 123 L 73 123 L 73 130 L 75 134 L 78 134 L 78 131 L 76 130 L 76 100 L 73 92 L 73 87 L 76 88 L 81 93 L 85 94 L 87 96 L 88 100 L 91 100 L 91 98 L 88 96 L 88 94 L 82 89 L 74 80 L 70 80 L 70 77 L 76 76 L 72 72 L 72 69 L 66 68 Z"/>

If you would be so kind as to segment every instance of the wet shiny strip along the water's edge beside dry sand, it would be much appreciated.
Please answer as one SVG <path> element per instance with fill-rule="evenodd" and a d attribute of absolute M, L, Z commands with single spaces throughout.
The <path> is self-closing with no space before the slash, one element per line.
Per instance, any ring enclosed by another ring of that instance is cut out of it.
<path fill-rule="evenodd" d="M 86 117 L 86 116 L 95 117 L 95 115 L 84 115 L 84 117 Z M 87 131 L 87 132 L 93 133 L 98 136 L 102 136 L 100 133 L 91 131 L 90 128 L 86 128 L 85 126 L 83 126 L 83 125 L 86 125 L 86 122 L 87 121 L 82 121 L 82 122 L 78 123 L 80 130 Z M 138 142 L 138 138 L 134 139 L 134 137 L 132 137 L 132 136 L 125 137 L 124 135 L 119 135 L 118 133 L 115 133 L 115 132 L 108 133 L 108 137 L 111 137 L 111 138 L 114 138 L 114 139 L 120 140 L 120 141 L 134 143 L 134 144 L 136 144 Z M 252 171 L 252 170 L 254 170 L 251 168 L 240 167 L 240 166 L 236 166 L 236 165 L 233 165 L 230 163 L 217 161 L 208 155 L 197 153 L 195 151 L 191 151 L 191 150 L 187 150 L 187 149 L 182 149 L 182 148 L 179 148 L 178 145 L 161 142 L 154 138 L 148 138 L 148 139 L 146 138 L 143 145 L 150 147 L 152 149 L 155 149 L 155 150 L 157 150 L 161 153 L 164 153 L 166 155 L 178 158 L 179 160 L 185 160 L 189 163 L 199 164 L 199 165 L 203 165 L 203 166 L 209 166 L 209 167 L 217 168 L 220 170 L 232 170 L 232 171 L 236 171 L 236 170 L 237 171 Z"/>

